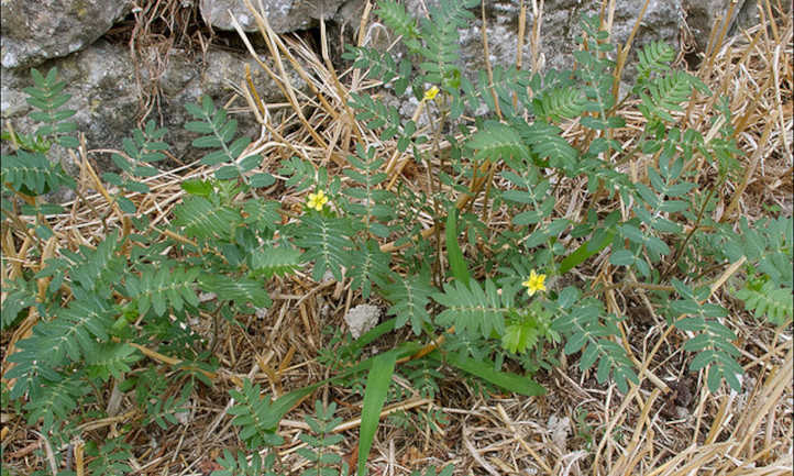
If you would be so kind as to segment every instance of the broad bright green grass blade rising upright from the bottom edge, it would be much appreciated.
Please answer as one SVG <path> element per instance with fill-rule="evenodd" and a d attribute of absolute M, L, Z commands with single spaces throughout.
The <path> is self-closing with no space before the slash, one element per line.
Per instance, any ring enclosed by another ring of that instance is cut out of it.
<path fill-rule="evenodd" d="M 372 442 L 375 439 L 381 410 L 386 401 L 388 386 L 397 361 L 397 354 L 387 352 L 375 357 L 366 377 L 364 405 L 361 410 L 361 433 L 359 435 L 359 476 L 366 474 L 366 460 L 370 456 Z"/>

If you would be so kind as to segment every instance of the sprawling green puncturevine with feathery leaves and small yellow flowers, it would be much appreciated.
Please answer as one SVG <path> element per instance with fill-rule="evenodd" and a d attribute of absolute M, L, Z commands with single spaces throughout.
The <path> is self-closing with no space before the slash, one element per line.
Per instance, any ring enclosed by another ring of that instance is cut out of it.
<path fill-rule="evenodd" d="M 333 370 L 329 380 L 271 399 L 243 379 L 231 391 L 228 413 L 252 456 L 225 450 L 214 475 L 278 474 L 284 468 L 276 453 L 261 451 L 283 443 L 280 419 L 321 385 L 354 377 L 364 385 L 356 461 L 363 475 L 399 366 L 424 368 L 430 392 L 435 374 L 427 364 L 444 363 L 487 385 L 536 396 L 544 390 L 532 374 L 555 365 L 559 350 L 578 354 L 583 372 L 593 368 L 598 383 L 611 380 L 625 394 L 643 374 L 628 352 L 626 318 L 607 302 L 618 287 L 646 290 L 670 329 L 690 336 L 683 344 L 694 355 L 690 368 L 705 372 L 712 391 L 724 381 L 738 390 L 740 353 L 721 320 L 726 309 L 709 302 L 713 285 L 727 266 L 739 266 L 745 277 L 731 281 L 734 297 L 758 318 L 791 322 L 792 219 L 737 226 L 712 218 L 740 154 L 730 110 L 716 101 L 723 106 L 714 120 L 726 125 L 708 139 L 682 125 L 691 95 L 712 91 L 671 69 L 674 52 L 662 43 L 639 53 L 635 84 L 619 97 L 620 69 L 609 59 L 615 48 L 597 18 L 582 19 L 573 70 L 542 75 L 496 66 L 471 80 L 459 64 L 459 29 L 476 4 L 443 0 L 418 21 L 398 3 L 382 1 L 376 13 L 407 54 L 398 59 L 348 48 L 346 59 L 368 78 L 419 101 L 417 114 L 405 119 L 376 97 L 350 98 L 356 119 L 393 151 L 357 144 L 341 176 L 298 157 L 272 175 L 258 169 L 260 155 L 249 155 L 251 140 L 238 136 L 236 122 L 203 98 L 187 104 L 194 120 L 185 128 L 197 134 L 192 145 L 207 151 L 201 164 L 214 171 L 183 182 L 187 196 L 173 220 L 151 223 L 129 198 L 150 192 L 144 179 L 159 173 L 168 148 L 166 131 L 150 121 L 113 154 L 118 171 L 101 177 L 115 190 L 106 198 L 118 220 L 101 218 L 103 237 L 96 246 L 58 254 L 52 253 L 52 223 L 65 210 L 46 197 L 77 187 L 48 154 L 56 144 L 79 152 L 80 143 L 69 122 L 75 111 L 63 108 L 65 84 L 55 69 L 46 76 L 34 69 L 35 86 L 25 91 L 36 109 L 30 118 L 42 125 L 3 134 L 12 154 L 2 160 L 2 222 L 3 240 L 29 241 L 43 264 L 18 268 L 3 283 L 2 328 L 34 323 L 7 357 L 3 408 L 19 406 L 53 447 L 81 436 L 82 424 L 102 416 L 97 409 L 111 388 L 134 396 L 144 414 L 136 424 L 168 428 L 198 386 L 212 385 L 219 365 L 214 342 L 192 332 L 189 318 L 234 323 L 268 308 L 268 283 L 296 272 L 318 283 L 331 275 L 364 299 L 383 299 L 389 319 L 322 361 Z M 627 99 L 639 99 L 637 110 L 647 120 L 630 141 L 617 133 Z M 430 128 L 420 128 L 421 114 Z M 560 126 L 571 120 L 586 131 L 575 141 Z M 449 145 L 442 148 L 442 141 Z M 430 170 L 422 196 L 395 187 L 393 177 L 409 156 Z M 633 178 L 616 167 L 638 157 L 641 173 Z M 693 181 L 695 164 L 712 167 L 716 178 Z M 575 217 L 558 210 L 554 199 L 571 179 L 587 182 L 587 200 Z M 309 191 L 302 213 L 262 195 L 277 180 Z M 600 198 L 615 196 L 627 207 L 597 208 Z M 489 228 L 494 210 L 507 210 L 510 223 Z M 422 229 L 416 213 L 431 217 L 433 228 Z M 596 258 L 608 259 L 611 283 L 572 274 Z M 362 357 L 368 343 L 404 326 L 412 341 Z M 146 361 L 146 350 L 178 364 Z M 176 370 L 169 379 L 180 381 L 176 394 L 164 385 L 166 368 Z M 349 472 L 334 451 L 341 436 L 332 433 L 340 422 L 333 414 L 333 405 L 318 402 L 315 417 L 307 417 L 313 435 L 301 435 L 301 455 L 312 465 L 305 475 Z M 85 450 L 91 474 L 132 472 L 123 436 L 87 442 Z M 451 473 L 448 466 L 440 475 Z"/>

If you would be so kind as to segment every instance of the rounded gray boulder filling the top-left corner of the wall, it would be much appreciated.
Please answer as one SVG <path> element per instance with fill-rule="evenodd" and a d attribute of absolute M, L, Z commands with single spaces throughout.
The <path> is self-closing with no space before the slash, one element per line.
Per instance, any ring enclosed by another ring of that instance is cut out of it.
<path fill-rule="evenodd" d="M 36 66 L 85 48 L 129 10 L 130 0 L 8 0 L 0 3 L 4 68 Z"/>

